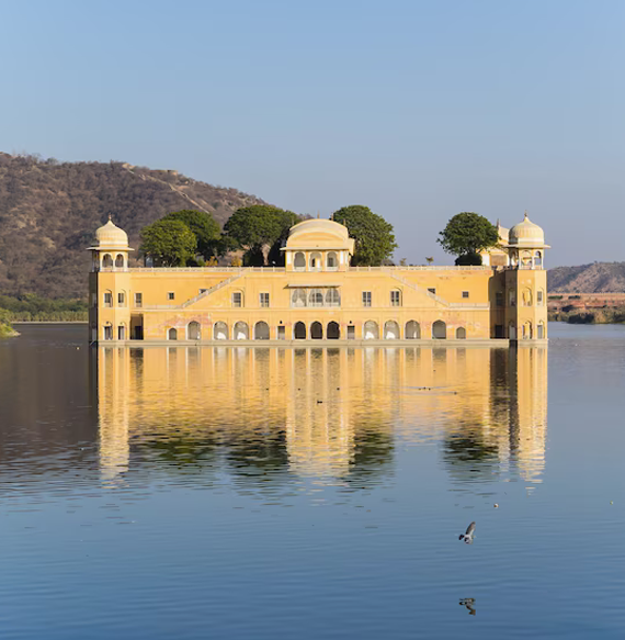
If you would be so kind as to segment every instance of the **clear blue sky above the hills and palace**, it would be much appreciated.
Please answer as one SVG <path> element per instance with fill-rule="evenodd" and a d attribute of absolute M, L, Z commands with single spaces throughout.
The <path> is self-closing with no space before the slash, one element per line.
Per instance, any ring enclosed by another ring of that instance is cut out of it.
<path fill-rule="evenodd" d="M 0 150 L 367 204 L 414 262 L 525 209 L 548 265 L 625 260 L 624 34 L 622 0 L 3 2 Z"/>

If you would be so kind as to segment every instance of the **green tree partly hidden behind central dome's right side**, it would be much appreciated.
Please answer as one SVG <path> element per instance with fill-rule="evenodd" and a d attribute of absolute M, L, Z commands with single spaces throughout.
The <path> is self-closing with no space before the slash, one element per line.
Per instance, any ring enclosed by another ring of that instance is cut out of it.
<path fill-rule="evenodd" d="M 343 206 L 334 211 L 332 220 L 344 224 L 355 239 L 353 265 L 379 267 L 397 247 L 393 225 L 368 206 Z"/>

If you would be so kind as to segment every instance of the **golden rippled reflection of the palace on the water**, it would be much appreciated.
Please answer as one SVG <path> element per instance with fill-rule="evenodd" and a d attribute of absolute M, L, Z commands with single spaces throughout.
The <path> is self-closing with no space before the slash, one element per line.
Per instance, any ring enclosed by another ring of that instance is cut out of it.
<path fill-rule="evenodd" d="M 104 479 L 141 464 L 365 482 L 431 441 L 458 481 L 539 482 L 547 349 L 100 347 Z"/>

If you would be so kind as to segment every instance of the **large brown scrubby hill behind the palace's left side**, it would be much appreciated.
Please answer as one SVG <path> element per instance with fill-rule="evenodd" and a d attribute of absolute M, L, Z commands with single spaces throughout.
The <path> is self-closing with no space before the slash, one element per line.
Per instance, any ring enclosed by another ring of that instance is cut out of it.
<path fill-rule="evenodd" d="M 0 294 L 84 297 L 84 249 L 109 214 L 137 248 L 139 229 L 170 211 L 207 211 L 223 225 L 235 210 L 258 203 L 174 170 L 0 153 Z"/>

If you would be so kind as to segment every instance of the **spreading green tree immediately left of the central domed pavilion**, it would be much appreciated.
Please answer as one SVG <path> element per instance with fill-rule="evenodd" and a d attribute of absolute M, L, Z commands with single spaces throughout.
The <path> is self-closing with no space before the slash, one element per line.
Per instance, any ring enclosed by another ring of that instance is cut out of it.
<path fill-rule="evenodd" d="M 299 222 L 297 214 L 268 204 L 237 209 L 224 225 L 228 238 L 246 250 L 246 263 L 266 262 L 268 247 L 281 242 Z"/>

